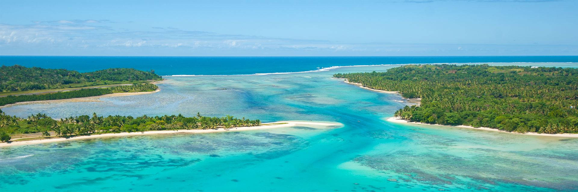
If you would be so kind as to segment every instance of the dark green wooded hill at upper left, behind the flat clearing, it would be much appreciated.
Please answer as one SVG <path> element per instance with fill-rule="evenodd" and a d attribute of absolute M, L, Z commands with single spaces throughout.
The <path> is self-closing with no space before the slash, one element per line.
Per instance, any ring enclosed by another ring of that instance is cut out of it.
<path fill-rule="evenodd" d="M 162 80 L 154 71 L 105 69 L 88 73 L 66 69 L 42 69 L 19 65 L 0 67 L 0 92 L 76 88 L 147 80 Z"/>

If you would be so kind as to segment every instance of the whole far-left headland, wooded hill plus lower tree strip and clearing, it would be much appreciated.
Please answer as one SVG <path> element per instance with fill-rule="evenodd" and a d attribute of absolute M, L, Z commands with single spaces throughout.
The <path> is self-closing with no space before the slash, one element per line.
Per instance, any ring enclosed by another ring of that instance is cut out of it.
<path fill-rule="evenodd" d="M 0 106 L 25 101 L 60 100 L 158 91 L 154 82 L 162 77 L 154 70 L 127 68 L 79 73 L 66 69 L 39 67 L 0 67 Z"/>

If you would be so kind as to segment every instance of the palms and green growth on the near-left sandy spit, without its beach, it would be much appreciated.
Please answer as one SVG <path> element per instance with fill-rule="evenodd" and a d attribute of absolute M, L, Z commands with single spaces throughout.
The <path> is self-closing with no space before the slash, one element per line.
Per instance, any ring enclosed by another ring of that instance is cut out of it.
<path fill-rule="evenodd" d="M 9 134 L 43 133 L 47 137 L 48 131 L 56 135 L 71 137 L 100 133 L 140 132 L 150 130 L 178 130 L 178 129 L 218 129 L 240 126 L 259 126 L 260 120 L 222 118 L 201 116 L 186 117 L 183 115 L 164 116 L 98 116 L 97 114 L 71 116 L 60 120 L 51 119 L 45 114 L 30 115 L 28 118 L 17 118 L 0 111 L 0 138 Z"/>

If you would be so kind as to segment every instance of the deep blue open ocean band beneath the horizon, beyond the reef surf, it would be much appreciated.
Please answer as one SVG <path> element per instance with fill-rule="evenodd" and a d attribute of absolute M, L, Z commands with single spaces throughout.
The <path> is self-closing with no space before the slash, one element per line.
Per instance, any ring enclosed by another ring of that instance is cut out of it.
<path fill-rule="evenodd" d="M 155 70 L 161 76 L 286 73 L 331 66 L 390 65 L 408 63 L 510 63 L 578 62 L 578 56 L 486 57 L 69 57 L 0 56 L 0 65 L 22 65 L 80 72 L 128 67 Z"/>

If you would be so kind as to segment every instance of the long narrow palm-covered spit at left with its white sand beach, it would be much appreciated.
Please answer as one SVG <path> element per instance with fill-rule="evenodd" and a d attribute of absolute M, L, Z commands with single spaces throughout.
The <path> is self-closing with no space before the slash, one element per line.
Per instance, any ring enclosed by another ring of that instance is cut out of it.
<path fill-rule="evenodd" d="M 235 118 L 234 116 L 209 117 L 197 113 L 196 116 L 71 116 L 52 119 L 46 114 L 18 118 L 6 115 L 0 110 L 0 147 L 28 144 L 42 144 L 69 140 L 83 140 L 99 137 L 122 137 L 151 134 L 213 133 L 220 131 L 244 131 L 272 129 L 280 127 L 306 126 L 314 129 L 334 129 L 343 127 L 338 122 L 279 121 L 261 123 L 259 119 Z M 18 138 L 12 138 L 19 136 Z"/>

